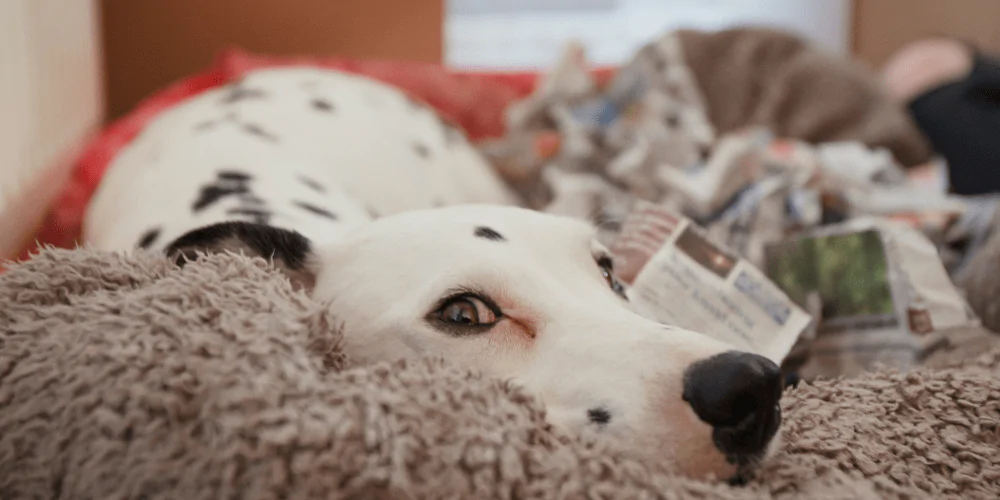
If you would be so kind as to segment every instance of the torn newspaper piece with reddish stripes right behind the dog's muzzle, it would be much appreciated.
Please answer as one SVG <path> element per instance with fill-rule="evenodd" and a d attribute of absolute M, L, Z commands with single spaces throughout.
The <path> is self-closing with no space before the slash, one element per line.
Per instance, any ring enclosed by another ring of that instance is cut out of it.
<path fill-rule="evenodd" d="M 641 313 L 775 363 L 811 317 L 759 269 L 709 240 L 690 219 L 639 201 L 611 246 Z"/>

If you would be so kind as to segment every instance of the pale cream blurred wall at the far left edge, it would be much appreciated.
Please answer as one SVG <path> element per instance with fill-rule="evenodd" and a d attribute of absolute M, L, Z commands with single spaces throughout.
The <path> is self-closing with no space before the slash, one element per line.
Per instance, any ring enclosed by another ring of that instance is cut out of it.
<path fill-rule="evenodd" d="M 96 0 L 0 0 L 0 257 L 101 121 Z"/>

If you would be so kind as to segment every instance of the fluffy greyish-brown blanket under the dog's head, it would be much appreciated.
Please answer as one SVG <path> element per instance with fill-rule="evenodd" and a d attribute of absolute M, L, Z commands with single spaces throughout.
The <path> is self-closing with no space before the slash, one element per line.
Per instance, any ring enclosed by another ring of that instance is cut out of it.
<path fill-rule="evenodd" d="M 790 390 L 782 451 L 728 486 L 564 435 L 442 360 L 352 366 L 336 319 L 260 259 L 46 250 L 0 304 L 4 499 L 1000 496 L 983 337 L 971 361 Z"/>

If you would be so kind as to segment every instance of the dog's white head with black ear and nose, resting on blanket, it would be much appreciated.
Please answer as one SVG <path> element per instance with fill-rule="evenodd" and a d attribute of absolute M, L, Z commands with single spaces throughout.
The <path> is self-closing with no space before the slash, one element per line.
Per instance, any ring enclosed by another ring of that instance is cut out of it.
<path fill-rule="evenodd" d="M 462 206 L 385 217 L 329 248 L 245 223 L 168 249 L 273 258 L 344 322 L 358 361 L 437 355 L 510 379 L 550 420 L 592 427 L 696 477 L 765 456 L 780 423 L 778 367 L 630 308 L 594 229 L 524 209 Z"/>

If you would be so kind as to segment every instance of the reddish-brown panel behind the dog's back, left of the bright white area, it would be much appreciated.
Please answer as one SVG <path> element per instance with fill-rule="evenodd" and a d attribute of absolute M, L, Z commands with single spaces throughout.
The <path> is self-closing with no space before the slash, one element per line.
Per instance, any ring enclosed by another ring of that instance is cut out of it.
<path fill-rule="evenodd" d="M 439 62 L 445 0 L 102 0 L 108 116 L 238 45 Z"/>

